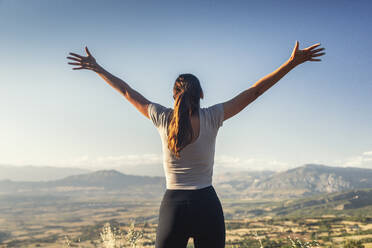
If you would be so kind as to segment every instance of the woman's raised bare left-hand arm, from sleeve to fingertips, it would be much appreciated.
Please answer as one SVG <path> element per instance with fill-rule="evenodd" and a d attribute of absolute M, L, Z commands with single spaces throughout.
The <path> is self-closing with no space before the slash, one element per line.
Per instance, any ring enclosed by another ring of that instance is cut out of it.
<path fill-rule="evenodd" d="M 132 89 L 126 82 L 118 77 L 115 77 L 103 67 L 101 67 L 89 52 L 88 47 L 85 47 L 87 56 L 81 56 L 76 53 L 70 53 L 74 57 L 67 57 L 75 62 L 69 62 L 70 65 L 78 65 L 80 67 L 72 68 L 73 70 L 88 69 L 96 72 L 103 80 L 111 85 L 115 90 L 119 91 L 134 107 L 136 107 L 144 116 L 149 118 L 147 108 L 151 102 L 142 96 L 139 92 Z"/>

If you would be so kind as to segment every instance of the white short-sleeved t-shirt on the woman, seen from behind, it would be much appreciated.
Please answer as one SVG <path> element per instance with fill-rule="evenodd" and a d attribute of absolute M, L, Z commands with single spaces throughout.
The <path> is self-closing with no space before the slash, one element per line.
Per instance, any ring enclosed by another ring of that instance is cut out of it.
<path fill-rule="evenodd" d="M 212 185 L 216 136 L 224 118 L 223 103 L 200 108 L 199 136 L 180 151 L 180 158 L 168 149 L 167 128 L 172 111 L 157 103 L 148 106 L 149 117 L 162 141 L 167 189 L 201 189 Z"/>

